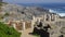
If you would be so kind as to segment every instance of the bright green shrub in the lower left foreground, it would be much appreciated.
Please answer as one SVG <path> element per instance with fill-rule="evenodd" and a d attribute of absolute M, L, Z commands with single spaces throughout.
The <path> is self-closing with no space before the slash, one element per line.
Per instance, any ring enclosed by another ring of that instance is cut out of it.
<path fill-rule="evenodd" d="M 21 37 L 21 33 L 0 22 L 0 37 Z"/>

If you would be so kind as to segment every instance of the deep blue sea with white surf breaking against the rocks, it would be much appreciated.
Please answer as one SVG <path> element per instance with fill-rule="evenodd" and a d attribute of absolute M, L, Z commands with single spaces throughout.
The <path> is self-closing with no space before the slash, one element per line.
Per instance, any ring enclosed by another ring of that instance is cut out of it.
<path fill-rule="evenodd" d="M 24 7 L 41 7 L 48 9 L 49 12 L 57 13 L 65 16 L 65 3 L 17 3 Z"/>

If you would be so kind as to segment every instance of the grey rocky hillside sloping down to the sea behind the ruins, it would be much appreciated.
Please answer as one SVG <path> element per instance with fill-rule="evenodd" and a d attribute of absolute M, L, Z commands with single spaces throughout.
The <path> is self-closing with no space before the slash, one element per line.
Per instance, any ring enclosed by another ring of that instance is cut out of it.
<path fill-rule="evenodd" d="M 31 20 L 32 15 L 40 16 L 50 13 L 49 10 L 38 7 L 23 7 L 17 4 L 3 4 L 2 14 L 8 13 L 4 18 Z"/>

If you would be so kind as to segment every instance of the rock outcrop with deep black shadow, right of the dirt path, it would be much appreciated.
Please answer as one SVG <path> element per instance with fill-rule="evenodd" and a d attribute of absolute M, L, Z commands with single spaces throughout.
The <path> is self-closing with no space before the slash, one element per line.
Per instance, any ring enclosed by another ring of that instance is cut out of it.
<path fill-rule="evenodd" d="M 65 37 L 65 22 L 58 24 L 46 24 L 43 22 L 36 23 L 32 35 L 40 35 L 41 37 Z"/>

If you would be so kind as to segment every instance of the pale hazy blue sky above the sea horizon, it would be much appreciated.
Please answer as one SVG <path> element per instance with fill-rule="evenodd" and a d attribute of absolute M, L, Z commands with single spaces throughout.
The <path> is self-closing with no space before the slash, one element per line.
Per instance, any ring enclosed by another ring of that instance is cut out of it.
<path fill-rule="evenodd" d="M 4 2 L 11 2 L 11 3 L 64 3 L 65 0 L 3 0 Z"/>

